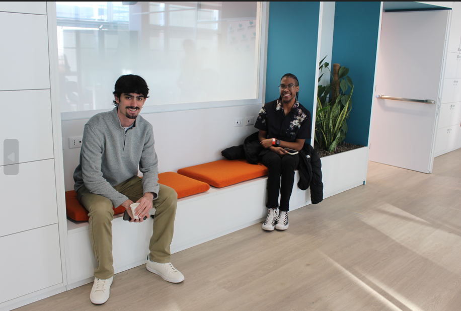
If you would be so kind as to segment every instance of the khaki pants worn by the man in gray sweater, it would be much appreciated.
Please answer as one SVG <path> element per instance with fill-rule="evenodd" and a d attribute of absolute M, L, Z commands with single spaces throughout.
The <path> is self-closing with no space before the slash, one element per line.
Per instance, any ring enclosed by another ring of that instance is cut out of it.
<path fill-rule="evenodd" d="M 134 176 L 114 187 L 118 192 L 136 202 L 143 194 L 141 178 Z M 112 257 L 112 219 L 114 210 L 112 202 L 98 194 L 91 193 L 85 185 L 77 191 L 79 202 L 90 212 L 90 240 L 98 266 L 95 276 L 108 279 L 114 275 Z M 176 216 L 178 195 L 168 186 L 160 185 L 159 196 L 152 201 L 157 209 L 153 220 L 153 234 L 149 243 L 149 258 L 155 262 L 170 262 L 170 244 Z M 137 223 L 132 222 L 133 225 Z"/>

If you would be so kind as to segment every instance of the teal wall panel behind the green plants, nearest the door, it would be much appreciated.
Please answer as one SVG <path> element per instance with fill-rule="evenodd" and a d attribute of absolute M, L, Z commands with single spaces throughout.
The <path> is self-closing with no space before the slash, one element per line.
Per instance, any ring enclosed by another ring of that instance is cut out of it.
<path fill-rule="evenodd" d="M 354 83 L 345 141 L 365 146 L 370 130 L 379 13 L 379 2 L 336 2 L 332 63 L 348 67 Z"/>

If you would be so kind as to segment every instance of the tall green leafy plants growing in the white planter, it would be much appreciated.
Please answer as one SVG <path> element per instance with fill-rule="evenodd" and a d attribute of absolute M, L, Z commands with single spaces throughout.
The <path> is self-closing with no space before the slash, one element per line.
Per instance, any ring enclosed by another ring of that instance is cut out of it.
<path fill-rule="evenodd" d="M 333 64 L 333 73 L 328 68 L 329 63 L 324 62 L 326 56 L 319 63 L 321 75 L 323 69 L 328 69 L 332 82 L 326 86 L 317 87 L 317 112 L 315 141 L 322 150 L 333 152 L 336 146 L 346 138 L 349 113 L 352 109 L 352 92 L 354 85 L 347 75 L 349 69 L 339 64 Z M 350 87 L 350 89 L 349 89 Z M 346 92 L 349 91 L 349 94 Z M 330 95 L 331 93 L 331 95 Z"/>

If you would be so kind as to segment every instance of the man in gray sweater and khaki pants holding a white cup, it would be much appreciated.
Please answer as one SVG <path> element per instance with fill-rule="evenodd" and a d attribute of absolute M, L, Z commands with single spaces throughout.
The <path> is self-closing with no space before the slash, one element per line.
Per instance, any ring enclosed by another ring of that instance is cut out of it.
<path fill-rule="evenodd" d="M 90 212 L 90 240 L 97 261 L 90 294 L 93 303 L 109 299 L 114 277 L 112 257 L 113 206 L 123 206 L 130 222 L 142 222 L 155 207 L 146 268 L 166 281 L 184 280 L 170 263 L 170 244 L 176 215 L 177 194 L 158 183 L 158 159 L 152 125 L 139 116 L 149 89 L 142 77 L 122 75 L 115 83 L 112 111 L 93 116 L 83 132 L 80 164 L 73 173 L 80 203 Z M 141 171 L 143 178 L 137 176 Z M 140 203 L 134 219 L 130 205 Z"/>

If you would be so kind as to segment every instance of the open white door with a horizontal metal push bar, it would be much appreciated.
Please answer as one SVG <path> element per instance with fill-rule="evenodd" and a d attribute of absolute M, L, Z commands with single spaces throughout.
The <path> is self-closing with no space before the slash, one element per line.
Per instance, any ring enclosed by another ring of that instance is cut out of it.
<path fill-rule="evenodd" d="M 382 14 L 369 159 L 430 173 L 448 11 Z"/>

